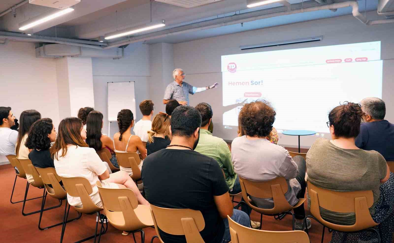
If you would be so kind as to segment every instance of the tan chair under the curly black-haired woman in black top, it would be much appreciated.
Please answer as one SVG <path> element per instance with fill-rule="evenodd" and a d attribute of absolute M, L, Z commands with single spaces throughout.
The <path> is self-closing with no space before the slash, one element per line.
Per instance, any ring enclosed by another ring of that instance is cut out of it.
<path fill-rule="evenodd" d="M 61 182 L 61 179 L 58 176 L 58 174 L 56 173 L 55 168 L 52 168 L 52 167 L 48 167 L 48 168 L 34 167 L 34 169 L 36 169 L 37 172 L 40 174 L 41 179 L 43 180 L 43 183 L 44 183 L 44 187 L 46 189 L 46 195 L 45 195 L 45 198 L 43 199 L 43 204 L 41 205 L 41 212 L 40 212 L 40 218 L 39 218 L 39 221 L 38 221 L 38 228 L 40 230 L 47 230 L 49 228 L 52 228 L 52 227 L 58 226 L 60 224 L 63 224 L 64 222 L 62 221 L 61 223 L 57 223 L 57 224 L 54 224 L 54 225 L 51 225 L 51 226 L 41 227 L 41 220 L 42 220 L 42 216 L 43 216 L 46 196 L 49 194 L 51 197 L 56 198 L 58 200 L 66 200 L 66 205 L 65 205 L 65 208 L 64 208 L 65 209 L 64 210 L 64 215 L 65 215 L 66 214 L 66 209 L 67 209 L 67 192 L 60 185 L 59 182 Z M 63 215 L 63 218 L 64 218 L 64 215 Z M 71 221 L 77 220 L 81 216 L 82 216 L 82 214 L 78 212 L 78 217 L 76 217 L 74 219 L 70 219 L 67 222 L 71 222 Z"/>

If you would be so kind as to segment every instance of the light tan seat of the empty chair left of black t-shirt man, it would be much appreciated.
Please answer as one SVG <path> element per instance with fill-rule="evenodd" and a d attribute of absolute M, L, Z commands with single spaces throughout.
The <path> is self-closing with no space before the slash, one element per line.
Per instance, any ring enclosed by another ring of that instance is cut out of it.
<path fill-rule="evenodd" d="M 133 228 L 125 227 L 125 218 L 123 217 L 123 212 L 121 211 L 114 212 L 106 210 L 106 215 L 113 227 L 119 230 L 132 231 L 153 226 L 153 219 L 149 206 L 139 204 L 137 208 L 134 209 L 134 212 L 136 213 L 141 224 L 136 222 Z"/>

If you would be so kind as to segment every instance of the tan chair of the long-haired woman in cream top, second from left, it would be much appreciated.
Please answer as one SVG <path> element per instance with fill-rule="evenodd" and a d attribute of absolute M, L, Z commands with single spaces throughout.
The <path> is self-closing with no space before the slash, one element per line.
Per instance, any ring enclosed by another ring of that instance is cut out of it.
<path fill-rule="evenodd" d="M 35 167 L 33 166 L 31 160 L 29 160 L 29 159 L 27 159 L 27 160 L 19 160 L 18 159 L 18 161 L 19 161 L 20 165 L 22 166 L 24 172 L 27 173 L 27 174 L 31 174 L 33 176 L 33 179 L 34 179 L 34 182 L 32 182 L 31 184 L 27 183 L 27 185 L 26 185 L 26 191 L 25 191 L 25 195 L 24 195 L 24 202 L 23 202 L 23 206 L 22 206 L 22 215 L 23 216 L 27 216 L 27 215 L 32 215 L 34 213 L 39 213 L 39 212 L 41 212 L 41 209 L 37 210 L 37 211 L 30 212 L 30 213 L 24 213 L 24 206 L 26 204 L 26 197 L 27 197 L 27 193 L 28 193 L 30 185 L 32 185 L 33 187 L 37 187 L 37 188 L 42 188 L 43 189 L 43 197 L 42 197 L 43 201 L 42 201 L 41 205 L 45 204 L 46 191 L 45 191 L 45 188 L 44 188 L 44 182 L 43 182 L 43 180 L 41 180 L 41 177 L 38 174 L 38 172 L 35 169 Z M 53 209 L 53 208 L 59 208 L 60 206 L 61 206 L 61 200 L 59 200 L 59 205 L 56 205 L 56 206 L 53 206 L 53 207 L 50 207 L 50 208 L 45 208 L 45 209 L 43 209 L 43 211 L 50 210 L 50 209 Z"/>

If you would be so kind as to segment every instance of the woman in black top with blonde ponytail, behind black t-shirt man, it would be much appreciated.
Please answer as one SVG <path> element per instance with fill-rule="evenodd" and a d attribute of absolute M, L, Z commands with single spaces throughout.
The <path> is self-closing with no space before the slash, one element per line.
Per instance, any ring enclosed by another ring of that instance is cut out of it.
<path fill-rule="evenodd" d="M 148 131 L 147 154 L 153 154 L 170 145 L 171 140 L 166 139 L 169 136 L 170 127 L 169 115 L 158 113 L 152 122 L 152 129 Z"/>

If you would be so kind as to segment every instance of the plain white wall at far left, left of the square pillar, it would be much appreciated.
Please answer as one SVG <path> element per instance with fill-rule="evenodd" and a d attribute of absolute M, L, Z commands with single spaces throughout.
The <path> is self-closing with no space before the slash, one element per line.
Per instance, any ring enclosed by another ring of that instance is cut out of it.
<path fill-rule="evenodd" d="M 0 106 L 11 106 L 15 117 L 36 109 L 57 127 L 60 121 L 56 63 L 54 59 L 35 58 L 34 44 L 0 44 Z M 0 162 L 6 161 L 3 156 Z"/>

